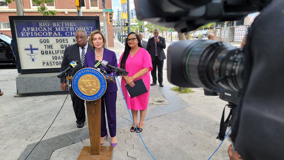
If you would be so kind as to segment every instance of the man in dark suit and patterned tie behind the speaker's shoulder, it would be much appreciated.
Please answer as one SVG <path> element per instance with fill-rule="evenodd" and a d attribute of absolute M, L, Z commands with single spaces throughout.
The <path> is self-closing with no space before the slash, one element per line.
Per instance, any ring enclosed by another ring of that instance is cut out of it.
<path fill-rule="evenodd" d="M 92 50 L 91 45 L 88 43 L 88 35 L 84 29 L 78 29 L 75 32 L 75 35 L 76 35 L 75 37 L 76 43 L 68 46 L 65 49 L 60 71 L 64 71 L 68 67 L 69 63 L 71 63 L 73 60 L 78 60 L 80 64 L 85 58 L 85 53 L 87 53 L 87 51 L 89 50 Z M 77 71 L 83 68 L 83 66 L 84 64 L 82 63 L 76 69 L 71 69 L 68 73 L 68 76 L 74 76 Z M 66 78 L 65 77 L 61 78 L 60 82 L 61 82 L 61 89 L 65 91 L 67 85 Z M 79 98 L 74 93 L 72 87 L 70 87 L 70 96 L 77 119 L 76 121 L 77 127 L 82 128 L 86 121 L 85 100 Z"/>

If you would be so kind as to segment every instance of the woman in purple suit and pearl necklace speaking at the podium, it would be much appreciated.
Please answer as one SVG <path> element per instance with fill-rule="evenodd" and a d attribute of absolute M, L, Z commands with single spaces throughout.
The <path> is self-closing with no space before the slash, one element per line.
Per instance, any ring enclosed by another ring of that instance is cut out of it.
<path fill-rule="evenodd" d="M 105 48 L 105 36 L 99 30 L 95 30 L 90 35 L 90 45 L 94 48 L 85 55 L 85 67 L 94 68 L 95 60 L 106 60 L 114 67 L 117 67 L 117 59 L 115 52 Z M 108 70 L 104 67 L 108 76 L 117 75 L 115 72 Z M 104 143 L 105 138 L 108 137 L 105 111 L 108 119 L 108 130 L 111 136 L 111 145 L 116 146 L 116 83 L 108 83 L 105 94 L 101 97 L 101 145 Z"/>

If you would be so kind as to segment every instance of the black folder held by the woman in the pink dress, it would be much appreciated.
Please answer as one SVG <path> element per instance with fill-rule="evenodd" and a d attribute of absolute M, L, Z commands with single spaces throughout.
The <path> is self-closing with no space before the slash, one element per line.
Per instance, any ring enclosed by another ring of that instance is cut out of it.
<path fill-rule="evenodd" d="M 128 84 L 125 84 L 126 86 L 126 89 L 130 95 L 131 98 L 133 97 L 136 97 L 136 96 L 139 96 L 143 93 L 146 93 L 148 92 L 147 88 L 146 88 L 146 85 L 143 81 L 143 79 L 138 79 L 136 81 L 133 81 L 135 83 L 135 86 L 132 88 L 130 85 Z"/>

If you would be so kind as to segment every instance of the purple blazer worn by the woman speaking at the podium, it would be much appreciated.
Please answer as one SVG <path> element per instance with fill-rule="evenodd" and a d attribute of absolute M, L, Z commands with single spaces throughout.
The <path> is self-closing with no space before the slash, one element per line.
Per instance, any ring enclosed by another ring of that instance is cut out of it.
<path fill-rule="evenodd" d="M 90 55 L 91 54 L 91 55 Z M 90 55 L 90 56 L 89 56 Z M 87 58 L 86 58 L 87 57 Z M 94 52 L 94 49 L 88 51 L 85 55 L 85 68 L 86 67 L 91 67 L 91 68 L 95 68 L 94 67 L 94 62 L 95 62 L 95 52 Z M 103 54 L 103 60 L 106 60 L 108 61 L 108 63 L 110 65 L 112 65 L 113 67 L 118 67 L 117 66 L 117 59 L 116 59 L 116 55 L 115 55 L 115 52 L 111 51 L 111 50 L 108 50 L 106 48 L 104 48 L 104 54 Z M 108 76 L 111 76 L 112 73 L 113 75 L 117 76 L 117 74 L 115 72 L 112 72 L 110 70 L 108 70 L 107 67 L 104 67 L 105 71 L 108 73 Z M 114 79 L 115 80 L 115 79 Z M 116 81 L 115 83 L 108 83 L 107 84 L 107 89 L 105 91 L 105 94 L 106 93 L 112 93 L 112 92 L 116 92 L 117 91 L 117 85 L 116 85 Z"/>

